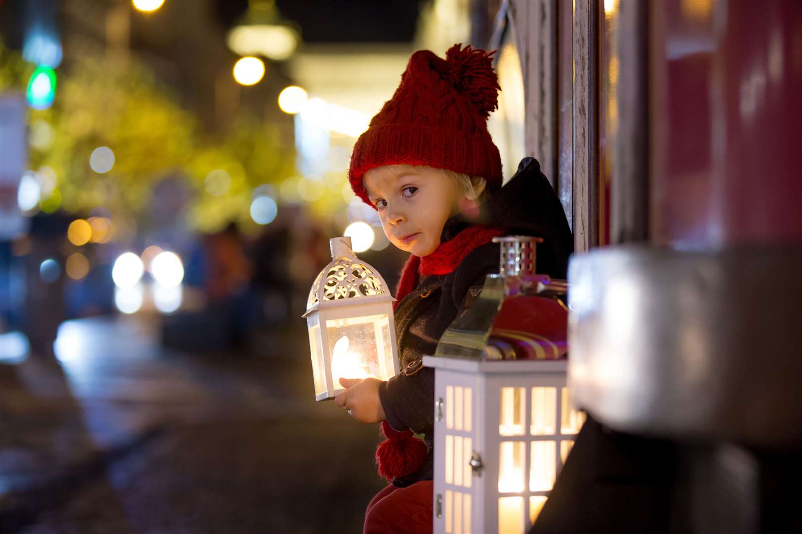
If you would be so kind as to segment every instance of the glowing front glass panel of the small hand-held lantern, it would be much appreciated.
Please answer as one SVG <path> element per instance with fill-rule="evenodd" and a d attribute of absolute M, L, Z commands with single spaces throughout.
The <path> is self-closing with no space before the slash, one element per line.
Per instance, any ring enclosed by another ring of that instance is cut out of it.
<path fill-rule="evenodd" d="M 331 378 L 339 388 L 340 378 L 393 376 L 390 318 L 387 314 L 326 321 L 331 354 Z"/>

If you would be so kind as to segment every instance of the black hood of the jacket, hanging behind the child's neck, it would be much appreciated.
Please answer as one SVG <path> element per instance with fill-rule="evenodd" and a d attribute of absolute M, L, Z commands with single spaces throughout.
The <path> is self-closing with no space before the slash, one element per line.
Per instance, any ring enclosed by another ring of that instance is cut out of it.
<path fill-rule="evenodd" d="M 460 213 L 446 221 L 440 241 L 476 224 L 503 228 L 509 235 L 542 237 L 543 243 L 537 245 L 537 272 L 565 278 L 573 236 L 560 199 L 536 159 L 521 160 L 515 176 L 480 205 L 476 216 Z"/>

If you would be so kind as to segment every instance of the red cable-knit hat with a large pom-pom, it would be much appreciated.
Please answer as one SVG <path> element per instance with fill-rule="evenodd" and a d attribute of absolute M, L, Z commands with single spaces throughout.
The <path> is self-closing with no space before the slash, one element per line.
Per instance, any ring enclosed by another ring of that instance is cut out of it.
<path fill-rule="evenodd" d="M 367 204 L 363 176 L 383 165 L 444 168 L 482 176 L 491 191 L 501 187 L 501 157 L 488 132 L 500 90 L 494 52 L 461 47 L 449 48 L 446 59 L 415 52 L 392 99 L 359 136 L 348 179 Z"/>

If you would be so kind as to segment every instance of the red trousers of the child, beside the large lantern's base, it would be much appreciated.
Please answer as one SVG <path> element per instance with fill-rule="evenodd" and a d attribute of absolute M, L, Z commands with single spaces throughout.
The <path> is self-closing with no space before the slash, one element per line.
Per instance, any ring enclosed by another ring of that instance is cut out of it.
<path fill-rule="evenodd" d="M 422 480 L 407 487 L 385 487 L 365 511 L 365 534 L 428 534 L 432 528 L 434 483 Z"/>

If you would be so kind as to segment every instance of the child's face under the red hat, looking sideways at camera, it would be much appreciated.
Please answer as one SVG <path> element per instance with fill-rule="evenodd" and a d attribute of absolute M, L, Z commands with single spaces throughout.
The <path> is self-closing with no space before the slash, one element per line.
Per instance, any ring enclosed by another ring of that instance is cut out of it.
<path fill-rule="evenodd" d="M 433 253 L 446 220 L 475 204 L 456 180 L 422 165 L 374 168 L 365 173 L 363 184 L 387 239 L 415 256 Z"/>

